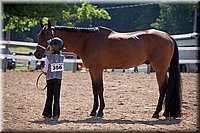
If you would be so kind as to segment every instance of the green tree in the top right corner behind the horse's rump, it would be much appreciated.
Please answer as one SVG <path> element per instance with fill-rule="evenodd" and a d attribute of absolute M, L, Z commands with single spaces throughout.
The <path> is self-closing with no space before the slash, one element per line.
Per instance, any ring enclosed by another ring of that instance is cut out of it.
<path fill-rule="evenodd" d="M 193 31 L 194 4 L 160 4 L 160 16 L 151 26 L 170 34 Z"/>

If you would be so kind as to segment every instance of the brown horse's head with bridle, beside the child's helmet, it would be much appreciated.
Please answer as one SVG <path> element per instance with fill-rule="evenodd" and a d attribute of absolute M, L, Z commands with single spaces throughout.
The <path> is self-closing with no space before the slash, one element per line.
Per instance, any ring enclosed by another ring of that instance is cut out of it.
<path fill-rule="evenodd" d="M 41 25 L 41 31 L 38 34 L 38 45 L 36 47 L 36 51 L 34 52 L 34 55 L 37 59 L 41 59 L 49 44 L 47 43 L 47 41 L 51 38 L 53 38 L 54 36 L 54 31 L 51 28 L 51 22 L 48 21 L 48 25 L 43 25 L 42 21 L 40 21 L 40 25 Z"/>

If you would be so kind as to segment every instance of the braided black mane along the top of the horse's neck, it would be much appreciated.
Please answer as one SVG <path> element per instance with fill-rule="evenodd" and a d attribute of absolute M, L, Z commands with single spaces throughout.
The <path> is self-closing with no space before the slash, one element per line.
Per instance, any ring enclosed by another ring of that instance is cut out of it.
<path fill-rule="evenodd" d="M 85 28 L 85 27 L 68 27 L 68 26 L 55 26 L 56 30 L 67 31 L 67 32 L 96 32 L 99 31 L 98 27 Z"/>

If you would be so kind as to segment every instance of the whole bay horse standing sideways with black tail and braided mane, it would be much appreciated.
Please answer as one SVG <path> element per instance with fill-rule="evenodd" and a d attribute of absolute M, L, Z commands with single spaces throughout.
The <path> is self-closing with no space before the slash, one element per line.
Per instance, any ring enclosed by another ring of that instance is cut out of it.
<path fill-rule="evenodd" d="M 51 26 L 50 21 L 48 25 L 41 22 L 41 27 L 34 53 L 36 58 L 44 56 L 48 47 L 47 40 L 59 37 L 64 41 L 64 47 L 77 54 L 85 67 L 89 68 L 94 95 L 91 116 L 104 115 L 103 69 L 127 69 L 146 63 L 154 68 L 159 86 L 159 99 L 152 118 L 159 118 L 164 99 L 163 116 L 181 117 L 182 87 L 178 47 L 167 33 L 155 29 L 119 33 L 105 27 Z"/>

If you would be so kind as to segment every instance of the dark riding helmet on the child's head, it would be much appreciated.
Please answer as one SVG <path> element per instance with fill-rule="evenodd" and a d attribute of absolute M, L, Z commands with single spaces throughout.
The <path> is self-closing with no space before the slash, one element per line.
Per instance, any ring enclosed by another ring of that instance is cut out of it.
<path fill-rule="evenodd" d="M 61 50 L 63 49 L 63 41 L 58 38 L 58 37 L 55 37 L 55 38 L 52 38 L 50 40 L 47 41 L 49 43 L 49 45 L 54 49 L 54 50 Z M 58 48 L 58 49 L 56 49 Z"/>

